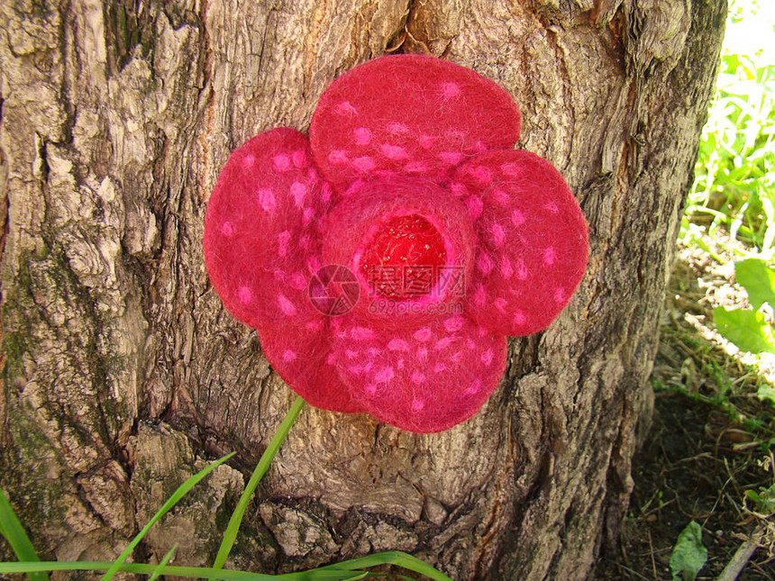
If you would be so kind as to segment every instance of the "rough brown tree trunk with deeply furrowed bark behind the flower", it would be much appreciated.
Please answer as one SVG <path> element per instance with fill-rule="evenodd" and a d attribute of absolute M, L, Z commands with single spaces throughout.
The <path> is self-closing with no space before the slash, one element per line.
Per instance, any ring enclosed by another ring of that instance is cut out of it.
<path fill-rule="evenodd" d="M 716 0 L 14 0 L 0 3 L 0 486 L 45 558 L 112 559 L 187 476 L 236 450 L 136 550 L 212 563 L 293 395 L 202 256 L 230 150 L 304 130 L 388 50 L 493 78 L 519 147 L 561 169 L 588 272 L 511 340 L 469 422 L 418 436 L 307 407 L 230 566 L 400 549 L 455 579 L 581 579 L 615 547 L 725 19 Z M 11 558 L 0 543 L 0 557 Z"/>

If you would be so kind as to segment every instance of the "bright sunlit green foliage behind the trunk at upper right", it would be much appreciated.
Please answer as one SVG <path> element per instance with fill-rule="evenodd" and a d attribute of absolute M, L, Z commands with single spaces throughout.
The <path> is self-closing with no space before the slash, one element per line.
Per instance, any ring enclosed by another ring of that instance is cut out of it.
<path fill-rule="evenodd" d="M 730 5 L 716 95 L 682 223 L 687 243 L 697 239 L 690 222 L 710 233 L 724 225 L 733 239 L 754 247 L 754 254 L 771 258 L 775 252 L 775 65 L 761 42 L 747 44 L 772 34 L 771 18 L 750 0 Z M 751 30 L 756 26 L 761 35 Z M 749 255 L 743 246 L 731 250 Z"/>

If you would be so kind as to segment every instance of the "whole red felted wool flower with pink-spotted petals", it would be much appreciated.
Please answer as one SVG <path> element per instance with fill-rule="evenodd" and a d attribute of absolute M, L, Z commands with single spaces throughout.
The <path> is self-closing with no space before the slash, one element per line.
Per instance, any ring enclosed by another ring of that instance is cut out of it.
<path fill-rule="evenodd" d="M 205 217 L 226 308 L 288 386 L 415 432 L 476 413 L 506 336 L 546 328 L 587 264 L 587 225 L 545 159 L 514 150 L 500 86 L 418 55 L 337 78 L 304 133 L 232 152 Z"/>

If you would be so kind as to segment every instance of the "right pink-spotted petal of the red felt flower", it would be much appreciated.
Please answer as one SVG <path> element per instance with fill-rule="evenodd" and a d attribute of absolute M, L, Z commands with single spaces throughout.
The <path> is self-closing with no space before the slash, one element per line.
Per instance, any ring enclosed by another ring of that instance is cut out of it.
<path fill-rule="evenodd" d="M 549 326 L 587 267 L 587 222 L 561 174 L 520 150 L 488 151 L 466 162 L 453 189 L 478 208 L 469 312 L 510 336 Z M 473 215 L 472 215 L 473 217 Z"/>

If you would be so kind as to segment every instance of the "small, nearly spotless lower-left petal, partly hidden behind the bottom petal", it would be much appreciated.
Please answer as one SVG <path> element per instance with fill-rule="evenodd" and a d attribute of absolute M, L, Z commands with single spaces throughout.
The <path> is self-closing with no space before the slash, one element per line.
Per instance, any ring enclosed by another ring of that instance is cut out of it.
<path fill-rule="evenodd" d="M 265 327 L 259 332 L 261 350 L 287 386 L 308 404 L 333 412 L 365 412 L 329 360 L 328 322 L 321 317 L 303 325 Z"/>

